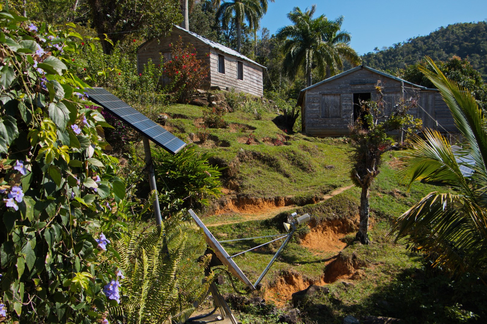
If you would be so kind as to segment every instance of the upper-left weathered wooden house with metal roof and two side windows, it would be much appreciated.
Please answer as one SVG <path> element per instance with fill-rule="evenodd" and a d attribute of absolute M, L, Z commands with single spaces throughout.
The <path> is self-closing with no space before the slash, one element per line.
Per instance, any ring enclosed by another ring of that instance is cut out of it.
<path fill-rule="evenodd" d="M 262 72 L 265 67 L 248 57 L 222 44 L 174 25 L 167 37 L 154 38 L 143 43 L 137 49 L 137 71 L 144 70 L 149 59 L 158 65 L 161 60 L 171 58 L 171 43 L 175 44 L 182 37 L 184 43 L 191 43 L 197 52 L 197 58 L 209 66 L 208 77 L 202 87 L 219 87 L 222 90 L 235 88 L 236 91 L 262 96 Z"/>

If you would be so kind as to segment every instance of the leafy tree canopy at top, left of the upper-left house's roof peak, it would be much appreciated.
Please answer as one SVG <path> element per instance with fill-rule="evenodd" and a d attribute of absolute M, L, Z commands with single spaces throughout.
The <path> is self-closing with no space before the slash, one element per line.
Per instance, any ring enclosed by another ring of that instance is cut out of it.
<path fill-rule="evenodd" d="M 147 38 L 165 35 L 173 24 L 181 21 L 179 0 L 88 0 L 87 3 L 96 32 L 108 34 L 113 44 L 131 33 Z M 104 53 L 112 52 L 110 42 L 102 41 L 102 47 Z"/>

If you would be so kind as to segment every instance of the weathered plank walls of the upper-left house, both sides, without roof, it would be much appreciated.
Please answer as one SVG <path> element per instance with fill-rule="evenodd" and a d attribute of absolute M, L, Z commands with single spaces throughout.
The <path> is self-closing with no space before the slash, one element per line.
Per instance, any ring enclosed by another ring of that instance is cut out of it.
<path fill-rule="evenodd" d="M 173 28 L 172 33 L 168 37 L 147 42 L 137 51 L 138 73 L 143 72 L 144 64 L 147 64 L 149 59 L 152 59 L 152 63 L 156 65 L 160 64 L 161 53 L 170 52 L 171 47 L 169 44 L 175 44 L 179 40 L 179 36 L 181 36 L 185 44 L 191 43 L 197 51 L 196 57 L 202 59 L 206 66 L 209 66 L 208 77 L 204 85 L 202 85 L 203 88 L 209 88 L 210 86 L 219 86 L 222 90 L 235 88 L 237 91 L 262 96 L 261 67 L 228 53 L 218 51 L 177 28 Z M 225 56 L 225 74 L 218 72 L 218 54 Z M 237 79 L 237 61 L 243 63 L 244 80 Z"/>

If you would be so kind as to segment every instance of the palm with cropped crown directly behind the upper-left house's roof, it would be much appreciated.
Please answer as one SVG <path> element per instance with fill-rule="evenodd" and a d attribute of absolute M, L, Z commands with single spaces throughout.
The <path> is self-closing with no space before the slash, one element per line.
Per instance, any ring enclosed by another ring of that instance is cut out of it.
<path fill-rule="evenodd" d="M 264 4 L 262 6 L 262 4 Z M 257 28 L 259 20 L 267 11 L 266 0 L 231 0 L 220 4 L 220 0 L 213 1 L 214 7 L 219 7 L 216 13 L 216 19 L 224 25 L 235 16 L 237 25 L 237 51 L 240 52 L 242 43 L 242 25 L 246 20 L 251 29 Z"/>

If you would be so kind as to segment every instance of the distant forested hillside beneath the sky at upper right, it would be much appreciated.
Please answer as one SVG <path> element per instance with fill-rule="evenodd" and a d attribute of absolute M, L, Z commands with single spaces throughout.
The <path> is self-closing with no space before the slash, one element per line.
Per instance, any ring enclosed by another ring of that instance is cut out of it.
<path fill-rule="evenodd" d="M 363 64 L 371 68 L 394 71 L 430 56 L 446 61 L 453 55 L 468 57 L 473 68 L 487 82 L 487 22 L 457 23 L 440 27 L 426 36 L 410 38 L 388 49 L 362 56 Z"/>

